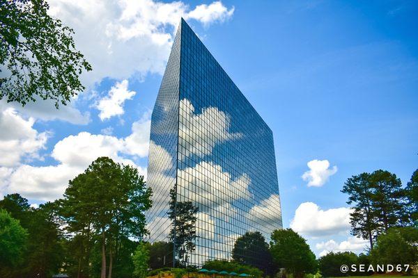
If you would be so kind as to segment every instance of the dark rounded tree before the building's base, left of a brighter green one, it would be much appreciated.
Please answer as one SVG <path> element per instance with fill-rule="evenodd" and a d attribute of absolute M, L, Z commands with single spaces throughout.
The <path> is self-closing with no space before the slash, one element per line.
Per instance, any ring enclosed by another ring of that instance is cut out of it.
<path fill-rule="evenodd" d="M 232 259 L 238 263 L 260 268 L 266 275 L 272 275 L 272 256 L 268 243 L 259 231 L 247 232 L 235 240 Z"/>

